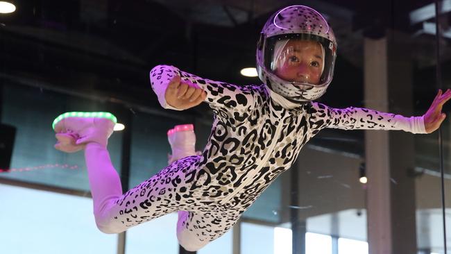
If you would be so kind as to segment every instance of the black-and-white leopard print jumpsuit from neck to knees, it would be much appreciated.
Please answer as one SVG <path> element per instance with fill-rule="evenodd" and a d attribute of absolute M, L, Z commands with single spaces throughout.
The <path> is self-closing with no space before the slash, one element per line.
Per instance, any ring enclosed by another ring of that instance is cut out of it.
<path fill-rule="evenodd" d="M 207 145 L 201 155 L 177 160 L 125 194 L 104 198 L 96 212 L 103 232 L 122 232 L 178 211 L 178 241 L 196 251 L 232 228 L 321 129 L 425 133 L 423 117 L 315 102 L 286 109 L 274 103 L 264 85 L 230 85 L 159 65 L 150 77 L 164 108 L 171 108 L 164 92 L 176 75 L 207 92 L 205 102 L 214 111 Z"/>

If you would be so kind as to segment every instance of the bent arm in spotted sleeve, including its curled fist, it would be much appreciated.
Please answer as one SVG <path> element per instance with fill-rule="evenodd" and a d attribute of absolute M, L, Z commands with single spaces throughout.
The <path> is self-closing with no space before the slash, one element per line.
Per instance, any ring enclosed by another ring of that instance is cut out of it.
<path fill-rule="evenodd" d="M 169 65 L 154 67 L 150 78 L 152 89 L 163 108 L 184 110 L 205 101 L 219 117 L 245 119 L 255 105 L 252 86 L 211 81 Z M 173 100 L 174 96 L 178 101 Z"/>

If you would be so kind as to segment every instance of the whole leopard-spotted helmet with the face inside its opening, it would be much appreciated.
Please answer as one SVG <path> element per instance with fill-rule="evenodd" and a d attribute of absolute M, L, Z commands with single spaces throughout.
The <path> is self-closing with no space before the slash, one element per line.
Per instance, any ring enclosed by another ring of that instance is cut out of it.
<path fill-rule="evenodd" d="M 337 40 L 329 24 L 307 6 L 275 12 L 257 42 L 257 73 L 269 90 L 293 103 L 321 97 L 334 75 Z"/>

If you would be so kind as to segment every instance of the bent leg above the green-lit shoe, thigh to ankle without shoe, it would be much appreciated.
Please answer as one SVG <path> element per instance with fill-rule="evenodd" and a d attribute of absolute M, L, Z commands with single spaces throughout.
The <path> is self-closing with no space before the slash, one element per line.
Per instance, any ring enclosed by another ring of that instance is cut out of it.
<path fill-rule="evenodd" d="M 102 232 L 123 232 L 139 223 L 190 206 L 182 192 L 190 187 L 187 179 L 195 174 L 193 165 L 197 157 L 174 162 L 125 194 L 121 193 L 119 176 L 106 149 L 96 143 L 87 144 L 85 157 L 94 217 Z"/>

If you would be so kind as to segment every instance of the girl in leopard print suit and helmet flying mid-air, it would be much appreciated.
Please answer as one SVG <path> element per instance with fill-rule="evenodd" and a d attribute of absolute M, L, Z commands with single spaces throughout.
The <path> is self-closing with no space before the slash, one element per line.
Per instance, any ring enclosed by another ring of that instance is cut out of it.
<path fill-rule="evenodd" d="M 164 108 L 185 110 L 205 101 L 214 110 L 214 124 L 201 155 L 173 154 L 168 167 L 125 194 L 106 149 L 114 116 L 58 117 L 55 147 L 85 150 L 102 232 L 119 233 L 177 211 L 178 241 L 197 251 L 229 230 L 323 128 L 432 133 L 445 119 L 441 109 L 450 90 L 439 91 L 422 117 L 314 102 L 332 81 L 336 56 L 325 19 L 312 8 L 289 6 L 270 17 L 257 43 L 262 85 L 210 81 L 166 65 L 153 68 L 151 85 Z"/>

